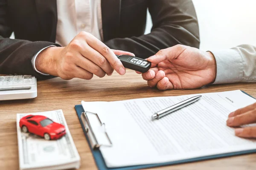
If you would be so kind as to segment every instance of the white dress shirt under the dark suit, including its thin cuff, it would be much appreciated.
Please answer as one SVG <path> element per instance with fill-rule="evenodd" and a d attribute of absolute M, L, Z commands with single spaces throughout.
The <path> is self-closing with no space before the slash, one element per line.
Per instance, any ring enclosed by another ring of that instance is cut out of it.
<path fill-rule="evenodd" d="M 81 31 L 89 32 L 99 40 L 103 40 L 101 0 L 57 0 L 57 16 L 55 43 L 67 46 Z M 48 75 L 35 68 L 35 59 L 44 49 L 35 54 L 32 65 L 38 73 Z"/>

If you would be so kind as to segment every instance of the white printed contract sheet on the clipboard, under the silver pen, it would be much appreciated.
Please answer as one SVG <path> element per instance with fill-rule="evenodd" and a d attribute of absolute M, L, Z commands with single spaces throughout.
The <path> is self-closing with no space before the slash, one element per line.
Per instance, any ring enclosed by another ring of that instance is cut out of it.
<path fill-rule="evenodd" d="M 151 116 L 194 95 L 152 97 L 116 102 L 84 102 L 85 112 L 105 123 L 112 146 L 99 150 L 107 167 L 125 167 L 203 158 L 256 149 L 256 140 L 235 136 L 229 113 L 256 102 L 242 91 L 206 93 L 197 102 L 160 119 Z M 95 137 L 107 144 L 104 130 L 91 116 Z M 250 126 L 250 125 L 249 125 Z"/>

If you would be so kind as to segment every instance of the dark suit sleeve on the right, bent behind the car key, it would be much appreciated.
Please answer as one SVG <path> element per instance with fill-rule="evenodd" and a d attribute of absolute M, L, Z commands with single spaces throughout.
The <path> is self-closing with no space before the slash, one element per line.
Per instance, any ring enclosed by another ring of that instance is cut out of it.
<path fill-rule="evenodd" d="M 115 38 L 105 44 L 141 58 L 177 44 L 199 48 L 198 20 L 192 0 L 149 0 L 148 10 L 153 23 L 150 34 Z"/>

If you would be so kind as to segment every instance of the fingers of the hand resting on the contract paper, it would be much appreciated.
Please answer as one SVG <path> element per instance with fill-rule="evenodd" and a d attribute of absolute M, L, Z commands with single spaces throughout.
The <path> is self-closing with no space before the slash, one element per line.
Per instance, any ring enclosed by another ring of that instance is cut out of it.
<path fill-rule="evenodd" d="M 243 138 L 256 138 L 256 126 L 244 127 L 239 126 L 256 123 L 256 103 L 245 108 L 238 109 L 229 114 L 227 126 L 238 127 L 235 130 L 236 136 Z"/>

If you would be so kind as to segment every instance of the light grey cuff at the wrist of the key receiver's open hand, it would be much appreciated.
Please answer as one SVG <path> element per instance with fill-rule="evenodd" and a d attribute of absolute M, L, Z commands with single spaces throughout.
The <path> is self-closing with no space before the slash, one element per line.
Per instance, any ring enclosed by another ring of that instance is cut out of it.
<path fill-rule="evenodd" d="M 233 49 L 210 52 L 217 64 L 217 75 L 213 84 L 241 82 L 243 59 L 239 52 Z"/>

